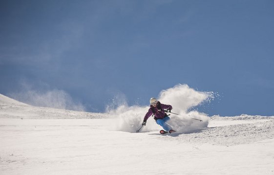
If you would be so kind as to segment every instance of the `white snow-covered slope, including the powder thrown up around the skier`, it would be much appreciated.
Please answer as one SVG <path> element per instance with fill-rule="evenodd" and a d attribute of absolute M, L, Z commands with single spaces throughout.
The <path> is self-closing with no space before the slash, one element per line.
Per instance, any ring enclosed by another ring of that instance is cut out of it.
<path fill-rule="evenodd" d="M 274 117 L 187 111 L 209 94 L 176 88 L 185 93 L 160 95 L 180 114 L 170 115 L 170 135 L 152 118 L 136 133 L 148 107 L 88 113 L 0 95 L 0 175 L 274 175 Z"/>

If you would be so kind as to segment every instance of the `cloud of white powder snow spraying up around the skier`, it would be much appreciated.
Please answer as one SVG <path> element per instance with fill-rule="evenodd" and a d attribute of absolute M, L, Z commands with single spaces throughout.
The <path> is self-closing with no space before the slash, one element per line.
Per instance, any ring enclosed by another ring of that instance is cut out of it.
<path fill-rule="evenodd" d="M 212 92 L 197 91 L 188 85 L 178 84 L 173 88 L 162 90 L 157 99 L 162 104 L 172 105 L 172 112 L 179 114 L 169 116 L 171 120 L 168 123 L 172 126 L 172 129 L 178 133 L 192 133 L 207 127 L 209 118 L 205 113 L 197 110 L 189 111 L 189 109 L 213 98 Z M 136 132 L 140 128 L 148 109 L 149 106 L 127 106 L 124 103 L 116 109 L 109 110 L 108 113 L 116 119 L 113 123 L 113 129 Z M 202 122 L 191 118 L 202 120 Z M 141 132 L 159 131 L 161 129 L 162 127 L 155 123 L 153 117 L 150 117 Z"/>

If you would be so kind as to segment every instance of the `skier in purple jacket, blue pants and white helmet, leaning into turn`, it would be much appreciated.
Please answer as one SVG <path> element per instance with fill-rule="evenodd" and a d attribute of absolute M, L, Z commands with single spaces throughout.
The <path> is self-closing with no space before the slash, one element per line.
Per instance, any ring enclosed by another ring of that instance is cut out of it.
<path fill-rule="evenodd" d="M 147 120 L 148 118 L 154 114 L 154 120 L 156 121 L 157 124 L 161 125 L 164 130 L 161 130 L 160 133 L 161 134 L 165 134 L 165 133 L 173 133 L 175 132 L 171 126 L 167 123 L 167 121 L 170 120 L 169 116 L 167 115 L 167 113 L 165 112 L 165 109 L 167 109 L 167 112 L 170 112 L 172 109 L 171 105 L 164 105 L 161 104 L 159 101 L 156 100 L 156 98 L 151 98 L 150 99 L 150 108 L 148 109 L 147 114 L 144 117 L 144 121 L 142 123 L 142 125 L 147 124 Z"/>

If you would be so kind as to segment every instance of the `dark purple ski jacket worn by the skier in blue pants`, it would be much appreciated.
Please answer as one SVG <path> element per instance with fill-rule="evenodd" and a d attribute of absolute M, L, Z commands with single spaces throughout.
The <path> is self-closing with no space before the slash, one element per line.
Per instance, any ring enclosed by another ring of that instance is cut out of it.
<path fill-rule="evenodd" d="M 156 119 L 163 119 L 164 117 L 166 117 L 166 113 L 165 113 L 165 109 L 172 109 L 171 105 L 164 105 L 161 104 L 160 102 L 157 103 L 156 107 L 153 107 L 152 105 L 150 105 L 150 108 L 148 109 L 147 114 L 144 117 L 144 121 L 146 122 L 148 120 L 148 118 L 154 113 Z M 155 119 L 155 120 L 156 120 Z"/>

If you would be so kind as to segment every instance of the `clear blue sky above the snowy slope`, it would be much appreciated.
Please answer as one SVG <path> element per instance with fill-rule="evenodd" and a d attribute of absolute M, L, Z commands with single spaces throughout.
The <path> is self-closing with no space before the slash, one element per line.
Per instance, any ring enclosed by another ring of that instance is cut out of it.
<path fill-rule="evenodd" d="M 273 31 L 273 0 L 1 0 L 0 93 L 102 112 L 187 84 L 209 115 L 274 115 Z"/>

